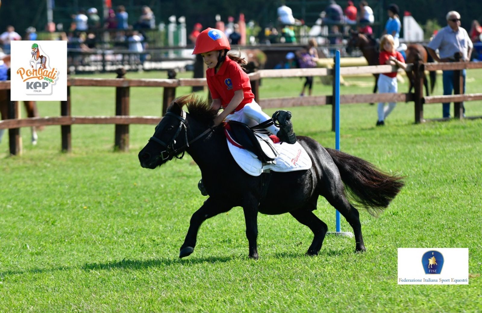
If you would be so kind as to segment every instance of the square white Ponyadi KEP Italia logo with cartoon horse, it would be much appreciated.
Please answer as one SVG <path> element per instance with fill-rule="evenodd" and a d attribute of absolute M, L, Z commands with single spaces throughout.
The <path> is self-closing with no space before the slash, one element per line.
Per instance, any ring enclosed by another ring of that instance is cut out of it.
<path fill-rule="evenodd" d="M 12 41 L 13 101 L 67 100 L 67 42 Z"/>

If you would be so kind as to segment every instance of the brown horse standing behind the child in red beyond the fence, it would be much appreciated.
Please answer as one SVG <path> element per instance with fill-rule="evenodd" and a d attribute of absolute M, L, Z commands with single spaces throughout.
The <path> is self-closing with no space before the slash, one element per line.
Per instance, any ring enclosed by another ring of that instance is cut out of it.
<path fill-rule="evenodd" d="M 354 48 L 359 48 L 362 51 L 363 56 L 368 62 L 368 65 L 379 65 L 379 44 L 375 41 L 375 39 L 366 36 L 365 34 L 352 32 L 350 39 L 347 43 L 347 53 L 351 54 Z M 428 54 L 426 48 L 418 43 L 409 44 L 407 50 L 405 51 L 406 60 L 405 63 L 414 63 L 418 58 L 421 62 L 433 62 L 432 57 Z M 414 75 L 412 71 L 407 71 L 407 77 L 410 81 L 410 88 L 408 92 L 412 91 L 414 86 Z M 375 76 L 375 88 L 373 89 L 373 93 L 377 91 L 376 82 L 378 80 L 378 74 L 373 74 Z M 436 72 L 430 72 L 430 92 L 433 92 L 433 87 L 435 86 L 436 80 Z M 427 91 L 427 95 L 430 94 L 428 91 L 428 81 L 424 74 L 424 85 Z"/>

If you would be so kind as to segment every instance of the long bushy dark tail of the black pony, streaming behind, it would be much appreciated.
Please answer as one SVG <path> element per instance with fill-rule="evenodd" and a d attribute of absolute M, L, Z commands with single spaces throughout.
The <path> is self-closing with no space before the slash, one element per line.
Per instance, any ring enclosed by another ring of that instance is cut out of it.
<path fill-rule="evenodd" d="M 376 216 L 403 187 L 403 177 L 387 174 L 375 165 L 347 153 L 326 149 L 348 190 L 348 196 Z"/>

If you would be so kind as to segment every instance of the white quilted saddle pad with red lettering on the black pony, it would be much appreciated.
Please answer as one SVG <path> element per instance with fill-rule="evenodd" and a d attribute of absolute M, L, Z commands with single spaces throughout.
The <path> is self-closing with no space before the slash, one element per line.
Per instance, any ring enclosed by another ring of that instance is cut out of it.
<path fill-rule="evenodd" d="M 262 162 L 254 155 L 254 153 L 238 148 L 229 142 L 228 148 L 234 160 L 238 165 L 249 175 L 260 176 L 263 171 L 268 169 L 275 172 L 291 172 L 307 170 L 311 168 L 311 159 L 306 150 L 296 142 L 290 145 L 286 142 L 279 142 L 273 144 L 278 150 L 279 155 L 275 158 L 273 163 L 268 163 L 263 166 Z"/>

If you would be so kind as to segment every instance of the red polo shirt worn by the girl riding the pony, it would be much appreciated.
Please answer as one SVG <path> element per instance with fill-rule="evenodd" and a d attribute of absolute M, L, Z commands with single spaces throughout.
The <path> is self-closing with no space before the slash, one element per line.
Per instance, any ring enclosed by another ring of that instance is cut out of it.
<path fill-rule="evenodd" d="M 206 79 L 211 96 L 213 99 L 221 99 L 221 105 L 224 109 L 228 106 L 236 90 L 243 90 L 244 99 L 235 111 L 239 111 L 245 104 L 251 103 L 254 99 L 248 74 L 229 56 L 226 56 L 226 60 L 217 73 L 214 73 L 214 68 L 208 68 L 206 70 Z"/>

